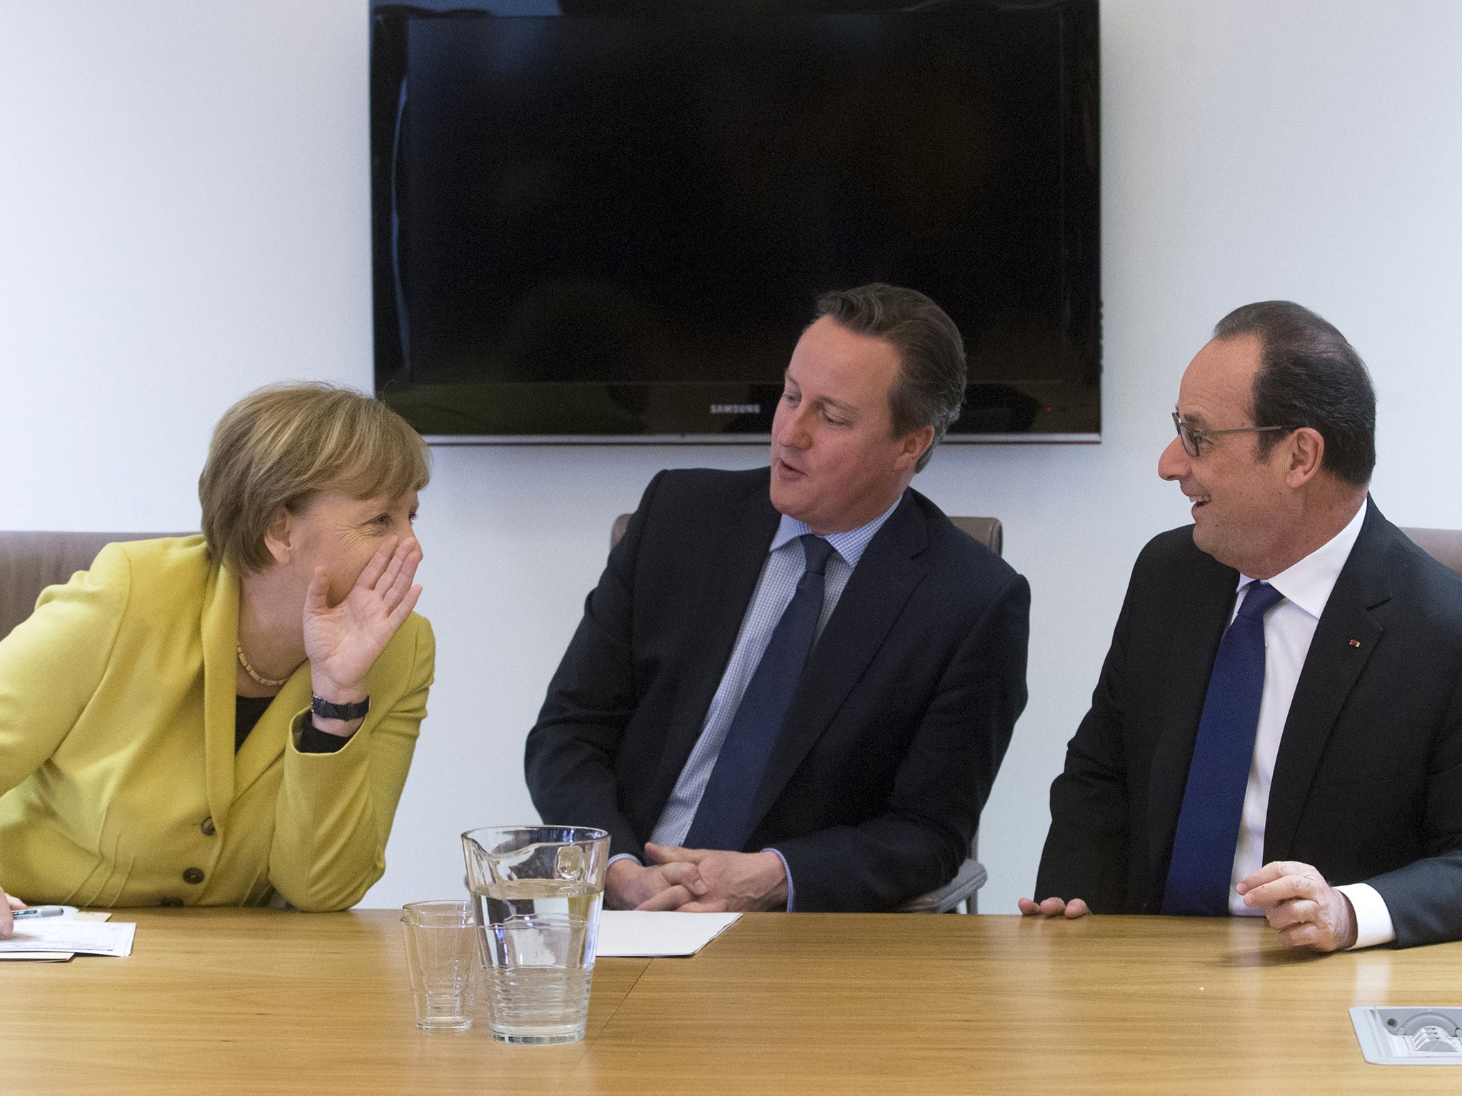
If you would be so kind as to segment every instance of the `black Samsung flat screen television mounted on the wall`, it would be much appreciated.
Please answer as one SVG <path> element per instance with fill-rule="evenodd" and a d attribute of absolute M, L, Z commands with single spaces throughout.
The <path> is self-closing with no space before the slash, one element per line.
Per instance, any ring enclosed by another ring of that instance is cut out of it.
<path fill-rule="evenodd" d="M 1096 0 L 371 6 L 376 384 L 439 443 L 760 440 L 816 297 L 953 317 L 959 440 L 1101 430 Z"/>

